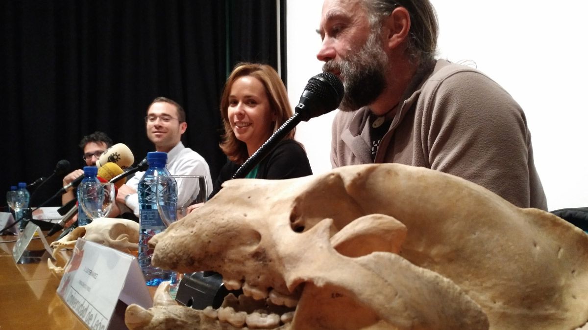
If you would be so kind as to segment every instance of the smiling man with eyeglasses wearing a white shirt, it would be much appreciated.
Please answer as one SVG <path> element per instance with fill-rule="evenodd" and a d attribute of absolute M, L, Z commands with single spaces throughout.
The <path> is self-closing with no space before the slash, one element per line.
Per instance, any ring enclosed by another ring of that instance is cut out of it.
<path fill-rule="evenodd" d="M 145 116 L 147 137 L 155 144 L 156 151 L 168 153 L 167 168 L 172 175 L 197 175 L 206 176 L 206 188 L 212 191 L 211 171 L 206 160 L 196 151 L 186 148 L 181 137 L 188 123 L 186 113 L 181 105 L 166 97 L 157 97 L 147 110 Z M 139 198 L 137 196 L 137 185 L 143 172 L 138 172 L 131 179 L 123 184 L 116 194 L 116 201 L 124 213 L 125 206 L 128 207 L 136 217 L 139 217 Z M 195 186 L 179 186 L 178 201 L 187 200 L 192 196 Z M 124 204 L 124 206 L 122 206 Z"/>

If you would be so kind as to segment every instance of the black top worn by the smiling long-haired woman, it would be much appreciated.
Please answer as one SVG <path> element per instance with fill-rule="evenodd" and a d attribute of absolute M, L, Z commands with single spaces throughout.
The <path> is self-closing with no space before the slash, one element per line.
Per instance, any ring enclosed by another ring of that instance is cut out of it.
<path fill-rule="evenodd" d="M 208 198 L 212 198 L 219 192 L 221 185 L 230 180 L 233 174 L 239 169 L 240 164 L 228 161 L 220 169 L 219 176 L 214 183 L 214 189 Z M 312 174 L 306 151 L 300 143 L 295 140 L 282 140 L 259 163 L 258 173 L 255 179 L 293 179 L 296 177 L 309 176 Z"/>

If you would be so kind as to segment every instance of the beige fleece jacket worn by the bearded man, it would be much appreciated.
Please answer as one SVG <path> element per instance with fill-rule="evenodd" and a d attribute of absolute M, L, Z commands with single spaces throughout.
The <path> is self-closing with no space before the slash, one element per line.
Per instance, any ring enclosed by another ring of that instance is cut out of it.
<path fill-rule="evenodd" d="M 423 79 L 423 77 L 425 77 Z M 439 170 L 486 187 L 518 207 L 547 210 L 521 107 L 483 73 L 446 60 L 415 77 L 375 163 Z M 333 168 L 372 163 L 369 108 L 333 120 Z"/>

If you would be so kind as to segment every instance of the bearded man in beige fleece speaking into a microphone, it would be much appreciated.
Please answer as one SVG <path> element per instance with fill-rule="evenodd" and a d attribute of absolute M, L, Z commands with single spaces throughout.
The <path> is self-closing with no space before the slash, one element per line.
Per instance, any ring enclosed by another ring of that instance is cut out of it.
<path fill-rule="evenodd" d="M 318 32 L 317 58 L 345 86 L 333 167 L 422 166 L 547 209 L 523 110 L 483 73 L 434 58 L 429 0 L 325 0 Z"/>

